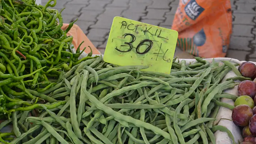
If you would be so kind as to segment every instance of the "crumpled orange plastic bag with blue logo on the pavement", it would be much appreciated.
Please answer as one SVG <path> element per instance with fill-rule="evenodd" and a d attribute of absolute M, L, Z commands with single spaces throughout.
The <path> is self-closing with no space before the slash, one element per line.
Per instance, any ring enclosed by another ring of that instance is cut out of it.
<path fill-rule="evenodd" d="M 177 46 L 199 57 L 225 57 L 232 33 L 230 0 L 180 0 L 172 29 Z"/>

